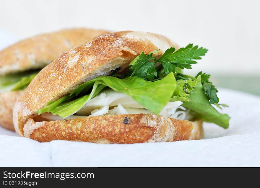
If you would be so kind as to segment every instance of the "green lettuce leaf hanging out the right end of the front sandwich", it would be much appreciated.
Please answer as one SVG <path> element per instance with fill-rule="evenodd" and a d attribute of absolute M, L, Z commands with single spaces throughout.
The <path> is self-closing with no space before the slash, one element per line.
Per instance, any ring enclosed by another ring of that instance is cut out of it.
<path fill-rule="evenodd" d="M 195 88 L 188 96 L 189 102 L 183 102 L 182 106 L 196 112 L 197 117 L 227 129 L 230 117 L 228 114 L 221 114 L 210 104 L 201 84 L 201 76 L 198 76 L 195 81 Z"/>

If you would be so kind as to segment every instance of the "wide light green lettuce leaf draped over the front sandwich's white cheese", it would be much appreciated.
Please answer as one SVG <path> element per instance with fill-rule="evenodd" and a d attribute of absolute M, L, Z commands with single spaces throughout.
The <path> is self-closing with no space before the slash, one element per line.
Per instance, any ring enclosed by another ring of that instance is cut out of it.
<path fill-rule="evenodd" d="M 46 104 L 45 107 L 38 110 L 38 115 L 44 112 L 51 112 L 53 115 L 57 114 L 66 118 L 81 109 L 92 97 L 102 91 L 105 86 L 114 91 L 124 92 L 151 112 L 159 114 L 173 96 L 176 89 L 176 81 L 173 73 L 169 73 L 162 80 L 154 82 L 145 81 L 137 76 L 124 79 L 118 79 L 113 76 L 99 76 L 78 86 L 59 102 L 55 101 Z M 91 93 L 87 94 L 89 89 L 91 89 Z M 72 101 L 63 103 L 64 100 L 68 99 L 67 97 L 72 97 L 70 98 Z"/>

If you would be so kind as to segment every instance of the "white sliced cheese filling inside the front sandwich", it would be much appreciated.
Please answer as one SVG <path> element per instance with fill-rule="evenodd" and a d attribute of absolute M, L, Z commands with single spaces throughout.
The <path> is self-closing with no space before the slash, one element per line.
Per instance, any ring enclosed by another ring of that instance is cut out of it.
<path fill-rule="evenodd" d="M 160 112 L 160 115 L 172 117 L 180 120 L 189 118 L 187 110 L 181 107 L 182 102 L 168 102 Z M 121 114 L 151 114 L 152 112 L 143 107 L 128 95 L 120 92 L 106 89 L 87 102 L 75 115 L 65 119 L 74 119 L 77 117 L 100 116 L 100 115 L 121 115 Z M 63 118 L 44 113 L 43 118 L 56 121 Z"/>

